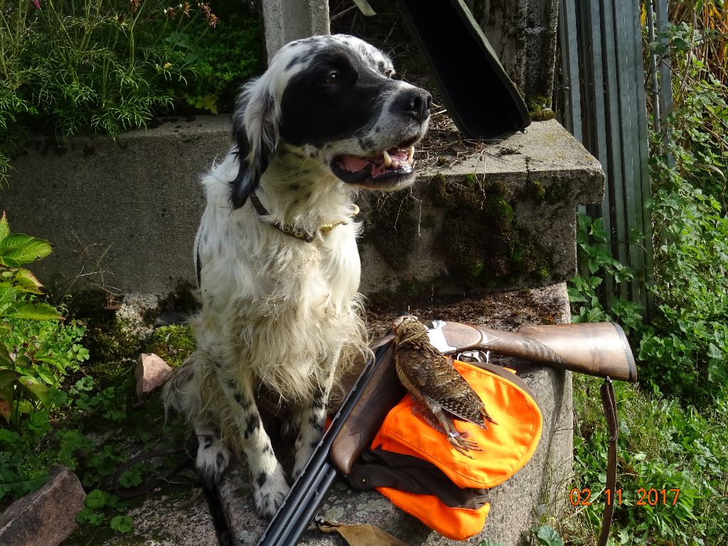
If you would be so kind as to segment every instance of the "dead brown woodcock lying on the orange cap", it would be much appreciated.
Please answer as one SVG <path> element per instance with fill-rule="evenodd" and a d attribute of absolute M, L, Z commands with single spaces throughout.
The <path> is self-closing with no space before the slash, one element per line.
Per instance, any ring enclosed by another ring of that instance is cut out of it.
<path fill-rule="evenodd" d="M 477 424 L 487 429 L 488 415 L 483 400 L 472 390 L 453 366 L 430 344 L 427 328 L 417 317 L 403 316 L 392 323 L 395 334 L 395 368 L 405 389 L 419 404 L 419 410 L 431 427 L 445 432 L 457 451 L 472 459 L 467 451 L 480 451 L 478 444 L 467 440 L 467 432 L 458 432 L 453 419 Z"/>

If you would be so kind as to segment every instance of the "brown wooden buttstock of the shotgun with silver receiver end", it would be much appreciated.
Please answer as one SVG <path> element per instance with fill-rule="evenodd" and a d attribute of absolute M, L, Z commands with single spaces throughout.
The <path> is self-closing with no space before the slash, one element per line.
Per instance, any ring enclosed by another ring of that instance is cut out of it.
<path fill-rule="evenodd" d="M 632 350 L 617 323 L 521 326 L 516 332 L 462 323 L 435 324 L 430 340 L 442 352 L 493 351 L 553 368 L 637 381 Z"/>

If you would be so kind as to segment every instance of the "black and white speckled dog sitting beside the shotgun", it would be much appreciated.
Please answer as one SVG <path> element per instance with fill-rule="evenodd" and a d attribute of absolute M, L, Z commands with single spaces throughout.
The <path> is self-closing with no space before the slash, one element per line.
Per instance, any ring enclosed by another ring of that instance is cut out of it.
<path fill-rule="evenodd" d="M 291 42 L 242 90 L 237 146 L 203 180 L 197 350 L 168 381 L 165 404 L 193 425 L 207 483 L 229 448 L 245 454 L 267 518 L 288 483 L 256 388 L 297 408 L 295 478 L 320 440 L 337 374 L 367 351 L 352 198 L 412 183 L 430 116 L 430 93 L 393 74 L 387 55 L 353 36 Z"/>

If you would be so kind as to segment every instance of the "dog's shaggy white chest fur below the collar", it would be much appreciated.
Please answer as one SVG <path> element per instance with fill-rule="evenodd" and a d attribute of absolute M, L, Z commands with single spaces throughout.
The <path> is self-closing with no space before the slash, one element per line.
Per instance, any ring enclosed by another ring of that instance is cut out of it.
<path fill-rule="evenodd" d="M 347 341 L 362 339 L 357 226 L 342 223 L 304 242 L 262 221 L 250 203 L 231 210 L 225 181 L 236 171 L 231 154 L 204 181 L 196 248 L 204 309 L 197 331 L 205 335 L 198 342 L 210 351 L 232 345 L 236 375 L 252 373 L 285 400 L 308 400 Z M 347 217 L 343 190 L 319 199 L 340 202 Z"/>

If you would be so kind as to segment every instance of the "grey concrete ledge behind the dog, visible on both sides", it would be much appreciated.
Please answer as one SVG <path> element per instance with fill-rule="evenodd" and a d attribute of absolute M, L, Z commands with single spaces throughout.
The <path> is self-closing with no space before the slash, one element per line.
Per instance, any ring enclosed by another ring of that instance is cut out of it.
<path fill-rule="evenodd" d="M 116 143 L 100 136 L 71 138 L 62 147 L 33 141 L 12 162 L 15 171 L 9 188 L 0 191 L 0 209 L 7 210 L 13 231 L 54 245 L 51 256 L 33 264 L 44 284 L 79 288 L 90 283 L 122 293 L 166 295 L 180 279 L 194 282 L 192 246 L 205 204 L 198 180 L 229 151 L 229 131 L 227 116 L 199 116 L 127 132 Z M 416 282 L 420 290 L 462 293 L 451 264 L 440 256 L 441 232 L 451 213 L 432 199 L 436 177 L 454 185 L 473 178 L 499 184 L 515 213 L 515 226 L 546 256 L 547 274 L 509 277 L 495 288 L 574 276 L 576 207 L 601 202 L 604 174 L 596 159 L 552 120 L 488 143 L 453 165 L 420 167 L 411 191 L 364 192 L 365 295 L 401 290 L 407 282 Z M 534 188 L 546 197 L 534 197 Z M 379 213 L 386 199 L 402 205 Z M 392 218 L 399 224 L 381 227 Z M 396 259 L 389 263 L 381 259 L 384 243 L 395 245 Z M 488 256 L 485 262 L 490 266 Z"/>

